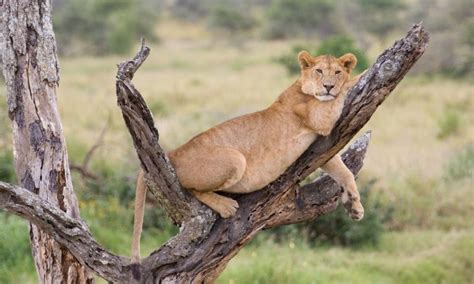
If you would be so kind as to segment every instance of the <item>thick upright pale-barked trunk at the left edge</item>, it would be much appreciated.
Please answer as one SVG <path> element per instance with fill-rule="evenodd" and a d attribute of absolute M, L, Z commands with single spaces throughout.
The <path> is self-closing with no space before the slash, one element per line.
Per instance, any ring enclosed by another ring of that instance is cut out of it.
<path fill-rule="evenodd" d="M 51 3 L 5 0 L 0 5 L 0 50 L 17 179 L 31 193 L 79 219 L 56 104 L 59 76 Z M 30 225 L 30 241 L 40 282 L 93 282 L 91 274 L 67 249 L 35 225 Z"/>

